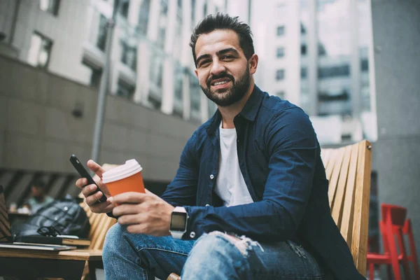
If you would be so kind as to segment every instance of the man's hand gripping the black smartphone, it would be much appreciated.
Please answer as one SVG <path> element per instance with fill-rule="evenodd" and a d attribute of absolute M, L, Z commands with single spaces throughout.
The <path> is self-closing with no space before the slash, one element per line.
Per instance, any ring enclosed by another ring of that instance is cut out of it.
<path fill-rule="evenodd" d="M 86 178 L 80 178 L 78 181 L 76 181 L 76 186 L 82 190 L 83 195 L 86 198 L 86 204 L 90 207 L 90 210 L 94 213 L 109 213 L 113 210 L 115 207 L 114 204 L 106 200 L 105 202 L 99 202 L 99 200 L 102 197 L 102 193 L 108 198 L 111 195 L 109 194 L 108 188 L 106 188 L 106 185 L 102 182 L 102 174 L 106 172 L 109 169 L 112 169 L 113 166 L 109 165 L 107 167 L 102 168 L 100 165 L 98 165 L 93 160 L 89 160 L 87 162 L 87 167 L 89 167 L 92 172 L 94 172 L 95 176 L 93 177 L 93 180 L 97 183 L 100 190 L 95 193 L 97 190 L 97 186 L 94 184 L 87 185 L 87 179 Z M 87 186 L 86 186 L 87 185 Z"/>

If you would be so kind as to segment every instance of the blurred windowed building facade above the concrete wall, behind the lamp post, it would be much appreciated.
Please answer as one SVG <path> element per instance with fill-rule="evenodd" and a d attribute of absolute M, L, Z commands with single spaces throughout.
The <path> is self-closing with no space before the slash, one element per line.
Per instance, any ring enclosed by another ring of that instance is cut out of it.
<path fill-rule="evenodd" d="M 0 6 L 3 54 L 99 87 L 113 0 L 0 0 Z M 207 120 L 216 106 L 201 92 L 188 42 L 204 15 L 224 8 L 217 0 L 120 0 L 109 93 L 185 120 Z"/>

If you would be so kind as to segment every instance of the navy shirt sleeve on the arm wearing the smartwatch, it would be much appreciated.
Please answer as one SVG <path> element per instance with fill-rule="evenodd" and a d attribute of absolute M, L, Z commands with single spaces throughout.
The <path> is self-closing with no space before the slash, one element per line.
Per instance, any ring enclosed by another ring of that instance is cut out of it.
<path fill-rule="evenodd" d="M 286 109 L 265 130 L 269 174 L 262 200 L 235 207 L 185 207 L 188 232 L 200 237 L 220 230 L 253 239 L 293 239 L 307 207 L 313 184 L 318 144 L 307 115 Z"/>

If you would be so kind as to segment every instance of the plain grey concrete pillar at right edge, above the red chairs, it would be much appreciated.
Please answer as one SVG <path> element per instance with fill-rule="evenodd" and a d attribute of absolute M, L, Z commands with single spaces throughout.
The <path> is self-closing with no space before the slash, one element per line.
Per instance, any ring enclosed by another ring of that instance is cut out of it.
<path fill-rule="evenodd" d="M 420 254 L 420 2 L 372 0 L 379 202 L 407 207 Z"/>

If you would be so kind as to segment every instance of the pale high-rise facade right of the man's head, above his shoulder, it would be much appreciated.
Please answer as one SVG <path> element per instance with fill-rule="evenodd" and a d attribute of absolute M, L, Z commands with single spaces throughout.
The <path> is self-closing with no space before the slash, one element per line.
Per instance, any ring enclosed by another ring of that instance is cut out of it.
<path fill-rule="evenodd" d="M 302 107 L 321 144 L 375 141 L 371 2 L 264 3 L 251 3 L 257 84 Z"/>

